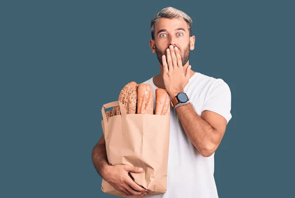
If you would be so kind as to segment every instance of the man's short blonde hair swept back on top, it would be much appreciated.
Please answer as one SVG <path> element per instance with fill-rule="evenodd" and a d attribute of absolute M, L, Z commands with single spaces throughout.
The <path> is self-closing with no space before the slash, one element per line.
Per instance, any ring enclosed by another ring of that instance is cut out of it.
<path fill-rule="evenodd" d="M 177 10 L 174 7 L 166 7 L 163 8 L 160 12 L 155 14 L 155 16 L 152 18 L 150 22 L 150 30 L 151 30 L 151 38 L 154 40 L 155 39 L 155 25 L 161 18 L 182 18 L 185 20 L 187 23 L 188 31 L 189 31 L 189 36 L 192 36 L 192 25 L 193 25 L 193 20 L 183 11 Z"/>

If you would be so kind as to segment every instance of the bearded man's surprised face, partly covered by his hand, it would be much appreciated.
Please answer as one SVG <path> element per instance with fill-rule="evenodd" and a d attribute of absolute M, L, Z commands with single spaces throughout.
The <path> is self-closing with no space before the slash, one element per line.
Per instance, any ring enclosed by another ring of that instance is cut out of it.
<path fill-rule="evenodd" d="M 181 51 L 181 61 L 184 66 L 188 62 L 190 49 L 193 49 L 190 44 L 188 27 L 183 19 L 161 18 L 155 25 L 154 52 L 162 66 L 162 55 L 167 55 L 166 49 L 170 45 L 177 46 Z"/>

